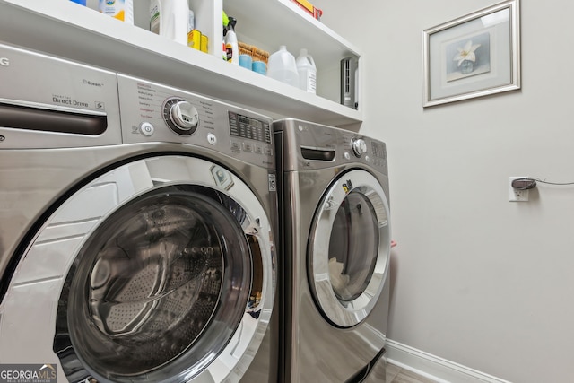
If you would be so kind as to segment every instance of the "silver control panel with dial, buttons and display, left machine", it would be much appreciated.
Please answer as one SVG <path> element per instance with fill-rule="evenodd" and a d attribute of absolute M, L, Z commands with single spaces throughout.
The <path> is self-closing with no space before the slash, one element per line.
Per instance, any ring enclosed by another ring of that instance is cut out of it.
<path fill-rule="evenodd" d="M 117 86 L 124 143 L 192 144 L 274 167 L 271 118 L 123 74 Z"/>

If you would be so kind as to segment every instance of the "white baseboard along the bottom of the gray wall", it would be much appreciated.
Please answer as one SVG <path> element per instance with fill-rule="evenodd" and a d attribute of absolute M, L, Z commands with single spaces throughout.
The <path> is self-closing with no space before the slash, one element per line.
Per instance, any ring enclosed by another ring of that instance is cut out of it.
<path fill-rule="evenodd" d="M 404 370 L 411 370 L 423 377 L 441 383 L 510 383 L 481 371 L 469 369 L 453 361 L 425 353 L 406 344 L 387 339 L 387 361 Z"/>

